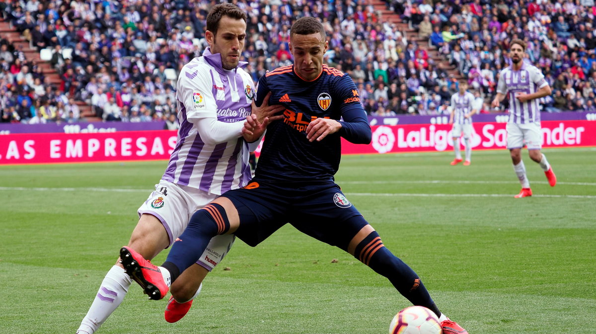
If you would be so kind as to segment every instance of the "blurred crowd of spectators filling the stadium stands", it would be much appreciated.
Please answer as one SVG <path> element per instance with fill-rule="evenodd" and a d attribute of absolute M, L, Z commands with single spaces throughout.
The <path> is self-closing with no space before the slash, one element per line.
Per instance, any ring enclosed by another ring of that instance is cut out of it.
<path fill-rule="evenodd" d="M 249 13 L 244 60 L 254 81 L 291 63 L 289 27 L 297 17 L 324 21 L 325 61 L 349 73 L 370 115 L 448 114 L 458 81 L 439 68 L 395 24 L 364 0 L 236 0 Z M 106 121 L 166 120 L 175 128 L 176 73 L 199 56 L 204 21 L 215 1 L 10 0 L 5 18 L 35 48 L 51 52 L 61 77 L 52 86 L 21 49 L 0 40 L 2 122 L 75 122 L 75 100 L 91 103 Z M 495 94 L 510 64 L 510 40 L 527 41 L 529 61 L 553 88 L 546 111 L 594 110 L 594 0 L 391 0 L 387 7 L 418 31 L 464 74 L 477 106 Z M 502 110 L 506 111 L 507 103 Z"/>

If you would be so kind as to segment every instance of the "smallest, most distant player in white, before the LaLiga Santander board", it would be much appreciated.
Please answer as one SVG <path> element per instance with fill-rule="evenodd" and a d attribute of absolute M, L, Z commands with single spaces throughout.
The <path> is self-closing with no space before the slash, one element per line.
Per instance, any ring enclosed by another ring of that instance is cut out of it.
<path fill-rule="evenodd" d="M 472 146 L 470 138 L 472 137 L 472 115 L 476 114 L 477 110 L 474 108 L 474 100 L 476 97 L 467 91 L 468 82 L 465 79 L 460 80 L 460 91 L 451 96 L 451 115 L 449 116 L 449 124 L 453 124 L 451 136 L 453 137 L 453 149 L 455 152 L 455 159 L 451 165 L 457 165 L 462 161 L 460 152 L 460 137 L 464 134 L 465 142 L 465 161 L 464 166 L 470 165 L 472 155 Z"/>

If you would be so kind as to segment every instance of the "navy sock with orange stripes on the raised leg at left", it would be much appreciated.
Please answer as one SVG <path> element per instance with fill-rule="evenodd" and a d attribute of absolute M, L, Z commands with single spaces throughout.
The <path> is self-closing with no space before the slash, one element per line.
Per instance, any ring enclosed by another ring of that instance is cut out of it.
<path fill-rule="evenodd" d="M 228 230 L 228 217 L 221 205 L 211 203 L 195 212 L 162 264 L 170 272 L 172 282 L 198 261 L 211 238 Z"/>

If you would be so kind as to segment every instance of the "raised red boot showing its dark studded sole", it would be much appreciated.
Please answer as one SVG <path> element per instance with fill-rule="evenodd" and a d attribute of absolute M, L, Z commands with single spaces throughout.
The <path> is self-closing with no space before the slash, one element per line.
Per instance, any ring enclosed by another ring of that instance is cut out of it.
<path fill-rule="evenodd" d="M 120 248 L 120 261 L 126 273 L 145 291 L 152 300 L 166 297 L 169 290 L 169 274 L 162 276 L 162 270 L 144 259 L 132 248 Z"/>

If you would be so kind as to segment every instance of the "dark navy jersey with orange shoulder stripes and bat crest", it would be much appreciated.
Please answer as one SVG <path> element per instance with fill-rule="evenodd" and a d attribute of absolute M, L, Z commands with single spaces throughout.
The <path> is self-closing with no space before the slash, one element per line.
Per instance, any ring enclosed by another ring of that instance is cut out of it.
<path fill-rule="evenodd" d="M 269 91 L 269 105 L 283 105 L 285 111 L 283 119 L 272 122 L 267 128 L 255 172 L 257 179 L 331 181 L 339 168 L 341 137 L 352 143 L 370 143 L 372 133 L 367 115 L 349 75 L 323 65 L 318 78 L 305 81 L 294 73 L 294 66 L 289 65 L 260 78 L 257 106 Z M 319 117 L 337 121 L 341 118 L 342 128 L 311 143 L 306 139 L 306 127 Z"/>

